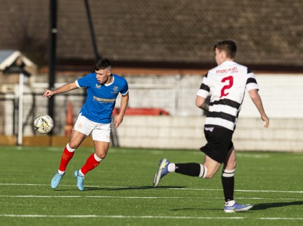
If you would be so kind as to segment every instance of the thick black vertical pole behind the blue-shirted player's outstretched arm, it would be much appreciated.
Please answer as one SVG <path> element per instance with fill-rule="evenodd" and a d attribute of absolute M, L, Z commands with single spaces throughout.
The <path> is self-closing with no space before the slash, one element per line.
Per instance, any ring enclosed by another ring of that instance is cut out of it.
<path fill-rule="evenodd" d="M 56 14 L 57 0 L 50 0 L 50 59 L 49 59 L 49 85 L 50 90 L 54 90 L 55 65 L 56 65 Z M 54 97 L 48 99 L 48 115 L 54 119 Z M 52 135 L 52 131 L 50 132 Z"/>

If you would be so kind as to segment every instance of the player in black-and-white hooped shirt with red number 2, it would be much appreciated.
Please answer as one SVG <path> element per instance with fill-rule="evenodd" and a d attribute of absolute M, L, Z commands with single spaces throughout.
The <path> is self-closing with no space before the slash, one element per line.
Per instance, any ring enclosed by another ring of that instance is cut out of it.
<path fill-rule="evenodd" d="M 236 170 L 236 150 L 232 136 L 236 128 L 245 90 L 260 112 L 264 127 L 269 127 L 269 118 L 264 112 L 262 100 L 258 94 L 255 75 L 249 68 L 234 61 L 237 46 L 234 41 L 218 41 L 213 50 L 216 54 L 217 67 L 209 70 L 203 77 L 200 89 L 196 94 L 196 105 L 207 111 L 205 119 L 205 138 L 207 144 L 200 148 L 205 152 L 205 159 L 200 163 L 170 163 L 163 158 L 154 176 L 154 187 L 169 172 L 212 178 L 223 163 L 222 187 L 224 192 L 224 212 L 244 212 L 253 205 L 241 205 L 233 199 L 234 175 Z M 211 94 L 209 104 L 207 96 Z"/>

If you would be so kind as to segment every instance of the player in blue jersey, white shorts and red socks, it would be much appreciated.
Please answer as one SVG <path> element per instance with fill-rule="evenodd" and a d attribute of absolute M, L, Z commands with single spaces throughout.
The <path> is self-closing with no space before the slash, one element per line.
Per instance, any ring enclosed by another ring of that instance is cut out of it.
<path fill-rule="evenodd" d="M 59 186 L 67 164 L 74 156 L 76 148 L 81 145 L 87 136 L 92 134 L 94 153 L 87 158 L 86 163 L 80 170 L 74 172 L 76 186 L 80 191 L 83 191 L 85 174 L 99 165 L 109 149 L 110 123 L 116 98 L 121 93 L 121 111 L 114 119 L 115 128 L 123 121 L 129 93 L 126 79 L 117 74 L 112 74 L 110 61 L 103 58 L 96 62 L 94 73 L 87 74 L 73 83 L 62 85 L 56 90 L 46 90 L 43 96 L 51 97 L 54 94 L 69 92 L 77 88 L 87 89 L 87 99 L 80 110 L 70 135 L 70 141 L 63 150 L 59 170 L 52 178 L 51 187 L 56 188 Z"/>

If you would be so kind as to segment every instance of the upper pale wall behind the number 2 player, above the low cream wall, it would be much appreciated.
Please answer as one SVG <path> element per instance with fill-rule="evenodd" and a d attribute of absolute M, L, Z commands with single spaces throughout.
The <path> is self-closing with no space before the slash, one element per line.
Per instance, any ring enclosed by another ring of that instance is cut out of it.
<path fill-rule="evenodd" d="M 130 107 L 160 107 L 176 116 L 200 116 L 195 105 L 202 76 L 125 76 Z M 256 74 L 260 96 L 270 118 L 303 119 L 303 74 Z M 119 101 L 117 101 L 117 104 Z M 259 117 L 246 92 L 242 117 Z"/>

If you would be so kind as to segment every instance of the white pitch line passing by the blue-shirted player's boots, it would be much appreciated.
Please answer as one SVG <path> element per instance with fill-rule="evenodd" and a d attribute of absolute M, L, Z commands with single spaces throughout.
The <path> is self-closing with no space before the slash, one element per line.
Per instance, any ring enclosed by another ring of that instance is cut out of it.
<path fill-rule="evenodd" d="M 20 183 L 0 183 L 0 185 L 14 185 L 14 186 L 47 186 L 45 184 L 20 184 Z M 60 185 L 61 187 L 75 187 L 75 185 Z M 94 186 L 94 185 L 87 185 L 87 188 L 90 187 L 97 187 L 97 188 L 126 188 L 126 189 L 171 189 L 171 190 L 197 190 L 197 191 L 222 191 L 222 189 L 215 189 L 215 188 L 187 188 L 187 187 L 125 187 L 125 186 Z M 243 190 L 243 189 L 235 189 L 235 192 L 278 192 L 278 193 L 303 193 L 303 191 L 277 191 L 277 190 Z"/>

